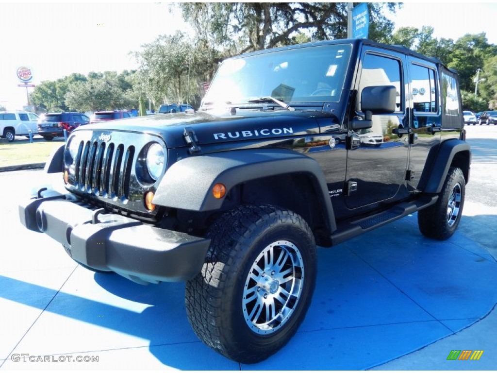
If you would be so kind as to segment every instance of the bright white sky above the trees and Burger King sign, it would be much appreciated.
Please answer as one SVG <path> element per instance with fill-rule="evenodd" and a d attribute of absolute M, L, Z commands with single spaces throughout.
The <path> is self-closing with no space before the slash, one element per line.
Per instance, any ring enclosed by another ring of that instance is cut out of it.
<path fill-rule="evenodd" d="M 17 87 L 21 66 L 31 69 L 34 85 L 72 73 L 136 69 L 130 52 L 188 29 L 168 3 L 1 1 L 0 105 L 9 110 L 27 103 L 26 89 Z M 497 2 L 408 1 L 389 18 L 396 28 L 432 26 L 438 39 L 485 32 L 497 45 Z"/>

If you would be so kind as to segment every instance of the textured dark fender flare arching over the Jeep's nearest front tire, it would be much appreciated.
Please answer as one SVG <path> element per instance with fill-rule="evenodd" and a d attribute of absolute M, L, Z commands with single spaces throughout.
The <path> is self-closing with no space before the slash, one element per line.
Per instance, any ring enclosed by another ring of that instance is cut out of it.
<path fill-rule="evenodd" d="M 289 149 L 247 149 L 184 158 L 174 163 L 164 175 L 153 203 L 192 211 L 218 210 L 223 198 L 211 190 L 222 183 L 227 191 L 240 183 L 292 173 L 313 178 L 317 198 L 325 209 L 330 231 L 336 229 L 325 176 L 314 159 Z"/>

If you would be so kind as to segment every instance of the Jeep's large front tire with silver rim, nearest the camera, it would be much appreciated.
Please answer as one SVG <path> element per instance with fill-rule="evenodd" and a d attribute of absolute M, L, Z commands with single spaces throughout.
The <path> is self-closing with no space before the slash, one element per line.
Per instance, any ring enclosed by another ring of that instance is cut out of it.
<path fill-rule="evenodd" d="M 201 273 L 186 283 L 195 334 L 240 363 L 260 362 L 295 334 L 311 303 L 316 243 L 302 217 L 275 206 L 241 206 L 211 228 Z"/>

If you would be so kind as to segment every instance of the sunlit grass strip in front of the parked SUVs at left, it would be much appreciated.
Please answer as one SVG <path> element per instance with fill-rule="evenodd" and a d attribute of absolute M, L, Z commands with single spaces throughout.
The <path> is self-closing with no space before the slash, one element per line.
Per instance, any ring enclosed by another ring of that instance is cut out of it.
<path fill-rule="evenodd" d="M 64 145 L 64 138 L 46 141 L 38 136 L 29 139 L 16 136 L 13 142 L 0 139 L 0 167 L 45 163 L 52 151 Z"/>

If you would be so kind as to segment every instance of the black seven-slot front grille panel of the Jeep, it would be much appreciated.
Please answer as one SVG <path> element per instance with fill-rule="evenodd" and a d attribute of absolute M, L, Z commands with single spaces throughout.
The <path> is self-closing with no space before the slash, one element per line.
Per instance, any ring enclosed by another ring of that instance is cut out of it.
<path fill-rule="evenodd" d="M 106 208 L 141 216 L 155 215 L 143 202 L 145 194 L 150 190 L 155 192 L 159 184 L 144 177 L 143 154 L 151 143 L 165 146 L 161 138 L 151 134 L 74 131 L 64 157 L 69 173 L 66 188 Z"/>

